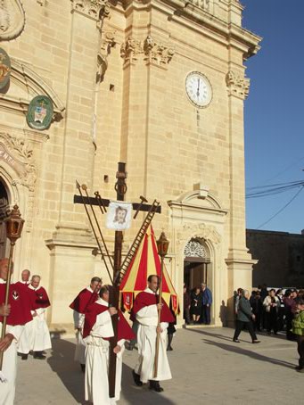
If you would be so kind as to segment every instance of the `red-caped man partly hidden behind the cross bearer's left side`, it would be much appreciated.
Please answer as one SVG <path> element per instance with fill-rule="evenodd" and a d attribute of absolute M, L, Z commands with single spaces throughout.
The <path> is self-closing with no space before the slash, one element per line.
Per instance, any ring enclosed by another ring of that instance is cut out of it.
<path fill-rule="evenodd" d="M 85 322 L 86 308 L 94 303 L 99 298 L 99 290 L 102 286 L 102 279 L 93 277 L 88 287 L 78 293 L 78 296 L 70 304 L 70 308 L 74 310 L 74 326 L 76 329 L 76 348 L 74 360 L 79 361 L 80 368 L 83 373 L 86 371 L 86 343 L 82 338 L 82 330 Z"/>

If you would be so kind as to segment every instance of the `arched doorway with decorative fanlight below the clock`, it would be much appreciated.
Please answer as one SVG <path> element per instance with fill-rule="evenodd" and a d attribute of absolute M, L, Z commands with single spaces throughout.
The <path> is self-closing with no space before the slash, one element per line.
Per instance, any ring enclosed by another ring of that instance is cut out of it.
<path fill-rule="evenodd" d="M 192 290 L 201 283 L 209 284 L 210 251 L 201 239 L 191 239 L 184 250 L 184 283 Z"/>

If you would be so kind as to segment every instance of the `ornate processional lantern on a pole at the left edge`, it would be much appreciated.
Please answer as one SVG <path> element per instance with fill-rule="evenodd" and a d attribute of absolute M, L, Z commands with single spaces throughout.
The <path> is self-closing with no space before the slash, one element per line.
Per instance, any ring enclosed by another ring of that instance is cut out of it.
<path fill-rule="evenodd" d="M 14 205 L 12 211 L 7 219 L 5 219 L 5 226 L 6 226 L 6 236 L 10 239 L 11 247 L 10 247 L 10 255 L 8 260 L 8 271 L 6 277 L 6 286 L 5 286 L 5 298 L 4 298 L 4 305 L 7 307 L 8 305 L 8 297 L 10 292 L 10 285 L 11 285 L 11 278 L 12 278 L 12 253 L 14 245 L 21 237 L 21 232 L 24 224 L 24 219 L 21 218 L 21 212 L 19 211 L 18 205 Z M 2 332 L 1 332 L 1 339 L 3 340 L 6 334 L 6 322 L 7 317 L 4 316 Z M 0 374 L 3 366 L 4 360 L 4 351 L 0 351 Z M 0 379 L 4 380 L 4 376 L 1 374 Z"/>

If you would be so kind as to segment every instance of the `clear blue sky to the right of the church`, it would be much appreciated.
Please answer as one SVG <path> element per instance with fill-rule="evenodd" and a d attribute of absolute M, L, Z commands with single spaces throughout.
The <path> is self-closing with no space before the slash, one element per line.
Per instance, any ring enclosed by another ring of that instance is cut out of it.
<path fill-rule="evenodd" d="M 263 37 L 259 53 L 245 62 L 251 79 L 244 112 L 248 195 L 251 187 L 304 181 L 304 1 L 241 3 L 242 26 Z M 304 189 L 246 198 L 246 227 L 300 233 Z"/>

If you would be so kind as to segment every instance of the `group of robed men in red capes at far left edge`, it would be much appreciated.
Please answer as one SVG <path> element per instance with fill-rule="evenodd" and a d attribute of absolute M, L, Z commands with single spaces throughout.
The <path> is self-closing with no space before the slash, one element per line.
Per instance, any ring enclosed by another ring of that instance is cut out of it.
<path fill-rule="evenodd" d="M 51 349 L 51 338 L 46 325 L 45 310 L 50 302 L 41 277 L 30 277 L 23 270 L 21 281 L 10 285 L 8 305 L 4 305 L 9 260 L 0 260 L 0 405 L 12 405 L 15 396 L 17 353 L 21 360 L 28 360 L 29 353 L 35 360 L 45 360 L 45 350 Z M 6 328 L 3 334 L 4 317 Z"/>

